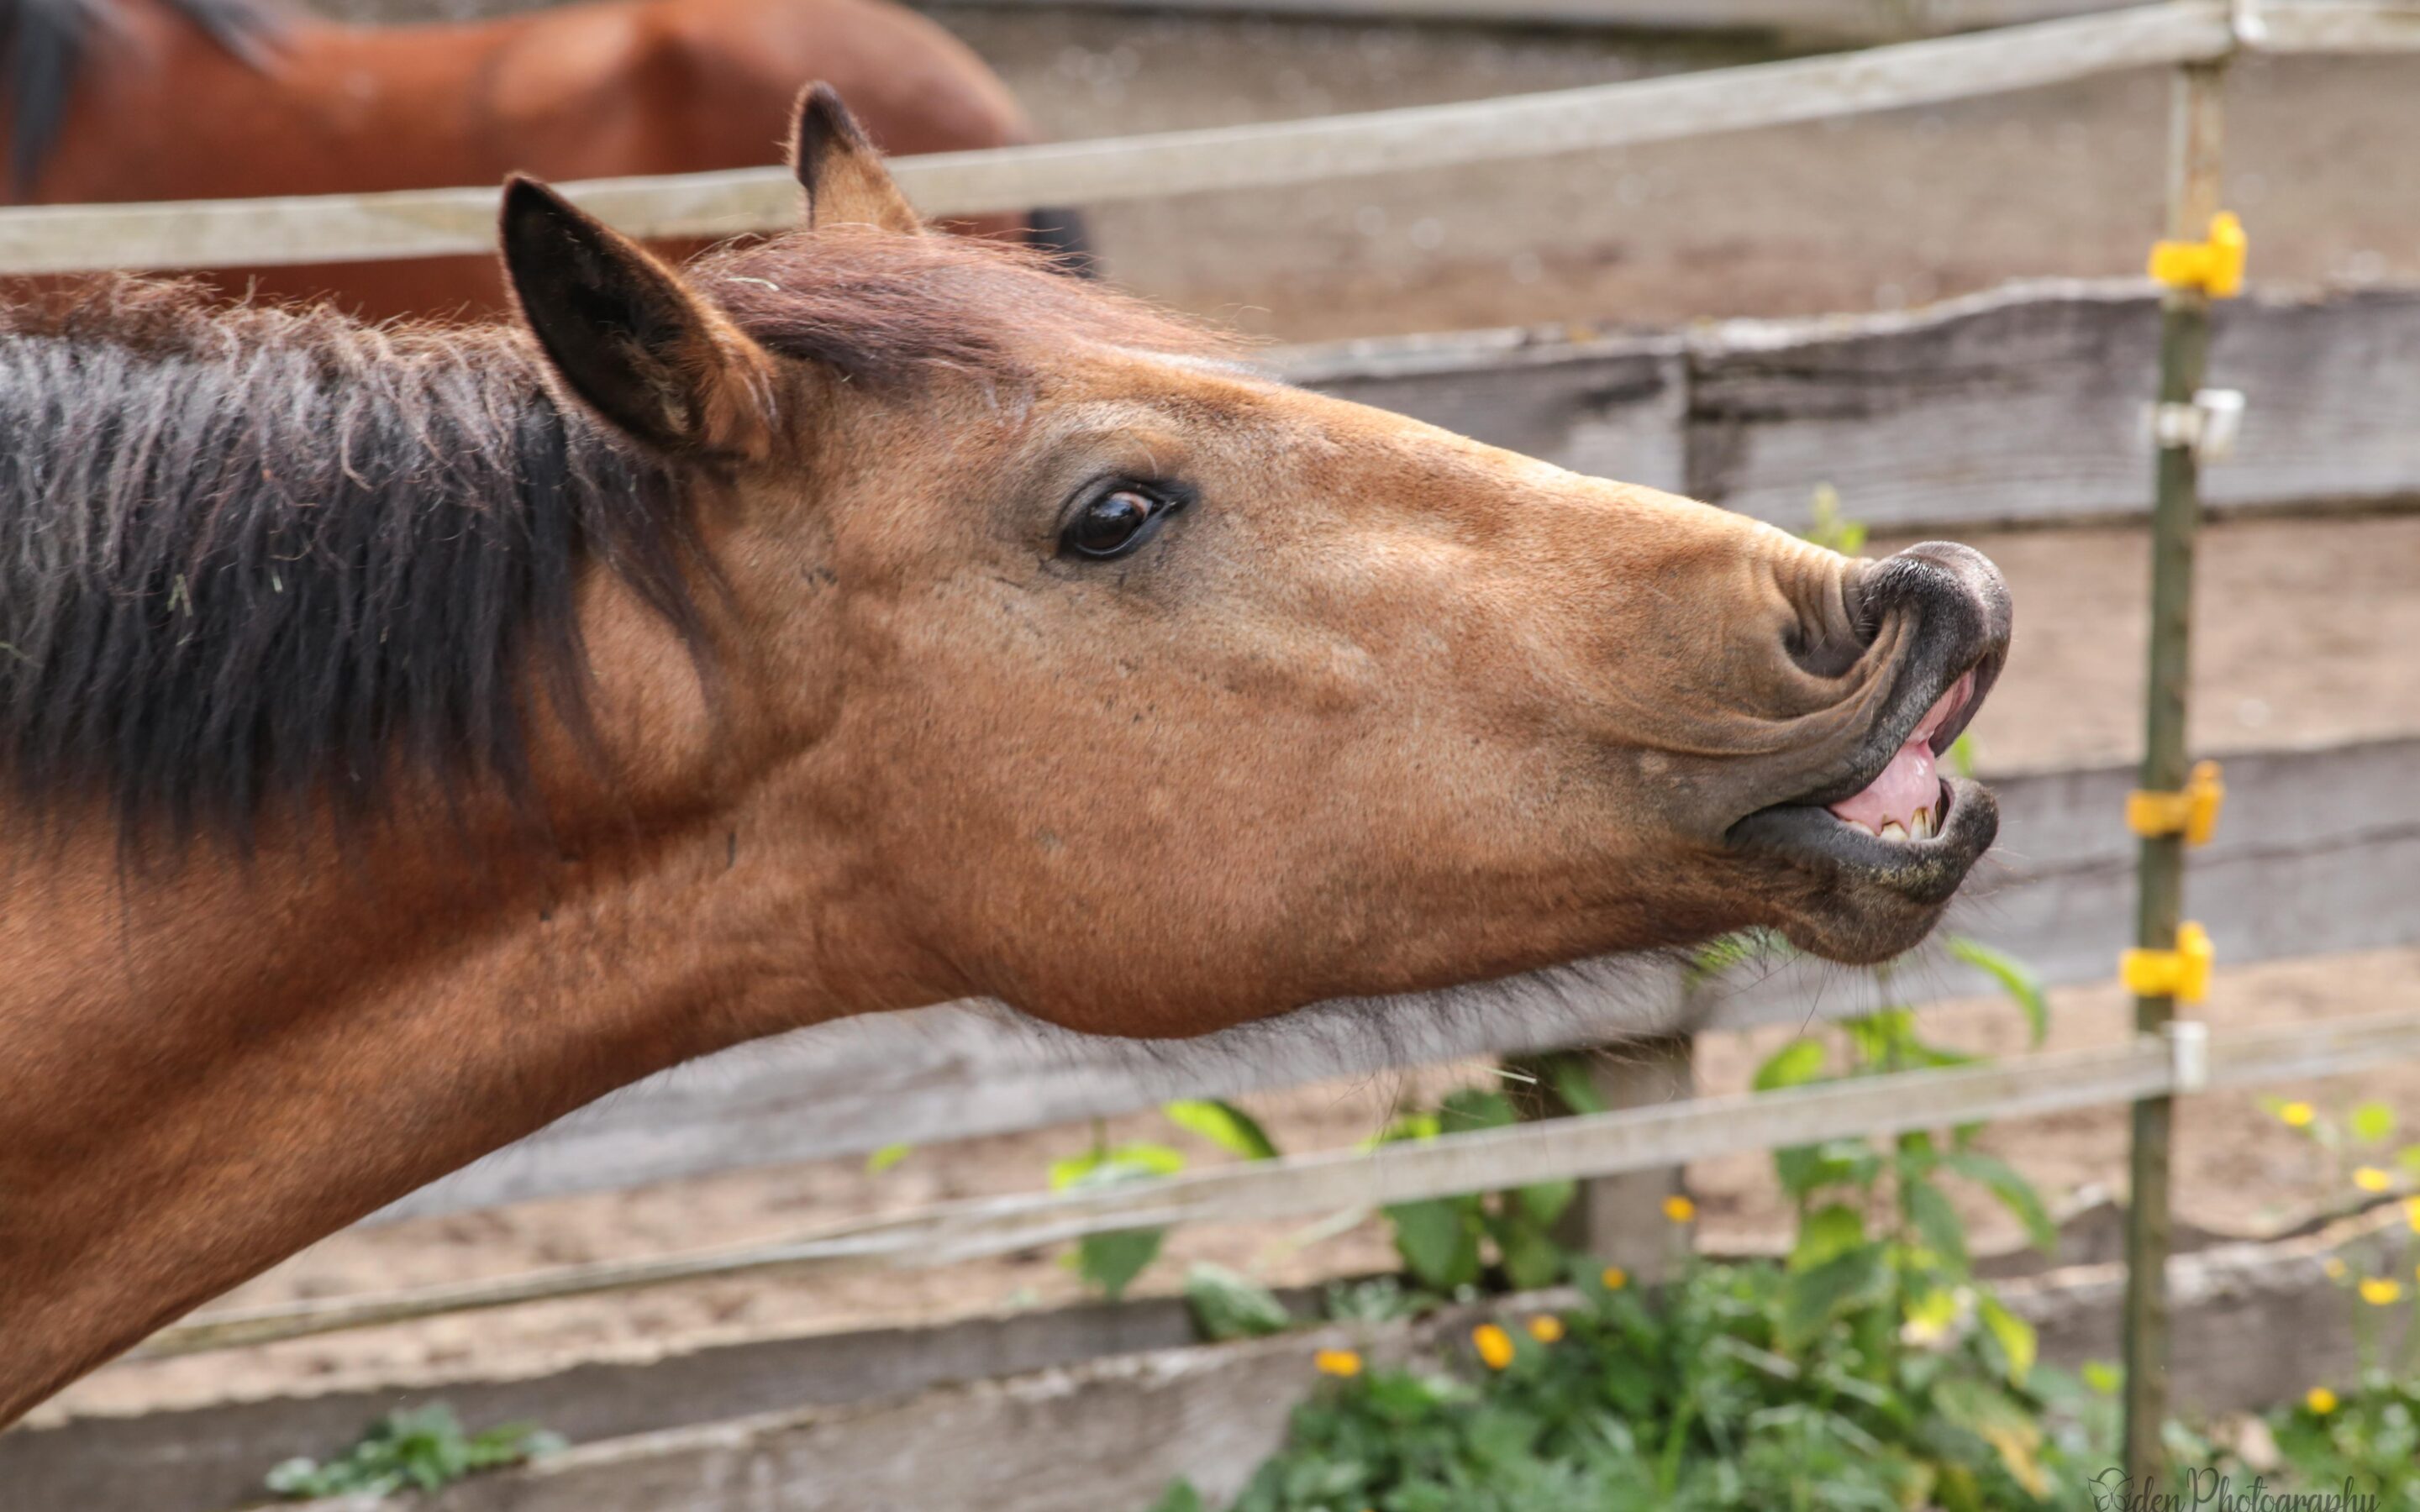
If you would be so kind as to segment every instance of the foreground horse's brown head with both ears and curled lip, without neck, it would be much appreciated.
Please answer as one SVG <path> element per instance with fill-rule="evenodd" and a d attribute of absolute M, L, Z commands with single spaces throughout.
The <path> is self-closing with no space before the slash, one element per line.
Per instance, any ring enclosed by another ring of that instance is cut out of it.
<path fill-rule="evenodd" d="M 828 92 L 796 165 L 811 227 L 687 276 L 530 181 L 503 247 L 564 387 L 728 479 L 724 760 L 852 878 L 869 1004 L 1191 1035 L 1747 924 L 1876 960 L 1989 844 L 1931 769 L 2006 651 L 1977 554 L 1273 382 L 920 235 Z"/>

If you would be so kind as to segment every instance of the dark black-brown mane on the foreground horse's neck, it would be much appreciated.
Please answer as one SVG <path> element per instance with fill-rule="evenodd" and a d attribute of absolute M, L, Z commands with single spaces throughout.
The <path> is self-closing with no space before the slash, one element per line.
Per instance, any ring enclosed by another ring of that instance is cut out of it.
<path fill-rule="evenodd" d="M 111 281 L 0 310 L 0 806 L 242 839 L 397 764 L 525 793 L 535 697 L 586 731 L 588 559 L 699 644 L 678 479 L 511 331 Z"/>

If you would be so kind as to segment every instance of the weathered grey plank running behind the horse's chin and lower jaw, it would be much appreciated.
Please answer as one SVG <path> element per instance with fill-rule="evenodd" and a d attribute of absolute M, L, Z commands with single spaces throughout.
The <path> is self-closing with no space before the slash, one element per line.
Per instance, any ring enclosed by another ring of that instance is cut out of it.
<path fill-rule="evenodd" d="M 2420 910 L 2379 902 L 2420 898 L 2415 769 L 2420 740 L 2229 757 L 2226 823 L 2195 856 L 2188 893 L 2222 960 L 2420 941 Z M 2110 764 L 1994 786 L 2004 839 L 1951 927 L 2013 951 L 2052 985 L 2110 977 L 2132 876 L 2115 815 L 2132 772 Z M 1972 968 L 1931 956 L 1895 982 L 1902 1002 L 1987 989 Z M 852 1018 L 615 1093 L 380 1217 L 997 1135 L 1396 1064 L 1846 1016 L 1873 1009 L 1871 992 L 1861 973 L 1788 963 L 1716 982 L 1682 1006 L 1667 963 L 1609 963 L 1500 992 L 1324 1006 L 1183 1048 L 1070 1035 L 980 1006 Z"/>

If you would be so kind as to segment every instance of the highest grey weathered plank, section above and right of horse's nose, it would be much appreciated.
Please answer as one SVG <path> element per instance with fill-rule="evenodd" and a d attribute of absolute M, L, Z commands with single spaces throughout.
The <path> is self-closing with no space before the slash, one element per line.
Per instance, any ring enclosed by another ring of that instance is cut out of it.
<path fill-rule="evenodd" d="M 1689 385 L 1689 494 L 1796 525 L 1830 481 L 1883 530 L 2149 513 L 2147 285 L 2035 285 L 1827 334 L 1730 322 Z M 2209 385 L 2251 394 L 2217 508 L 2420 491 L 2420 293 L 2219 307 Z"/>

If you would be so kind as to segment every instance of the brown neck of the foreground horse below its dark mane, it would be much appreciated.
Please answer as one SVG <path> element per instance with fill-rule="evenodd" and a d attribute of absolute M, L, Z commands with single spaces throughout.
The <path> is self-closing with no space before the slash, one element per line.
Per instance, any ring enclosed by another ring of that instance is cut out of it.
<path fill-rule="evenodd" d="M 741 871 L 721 830 L 600 830 L 506 866 L 455 835 L 264 849 L 167 881 L 99 830 L 0 856 L 0 1422 L 312 1239 L 818 997 L 791 977 L 770 1006 L 748 975 L 748 941 L 813 900 Z"/>

